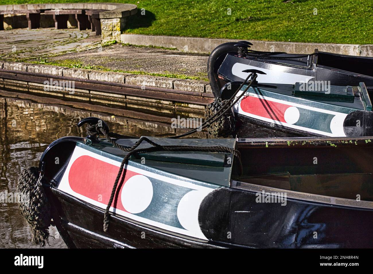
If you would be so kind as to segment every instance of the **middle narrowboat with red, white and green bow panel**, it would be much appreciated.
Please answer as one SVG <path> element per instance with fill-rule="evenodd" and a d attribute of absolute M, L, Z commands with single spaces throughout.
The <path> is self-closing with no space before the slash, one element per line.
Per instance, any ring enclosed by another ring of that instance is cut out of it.
<path fill-rule="evenodd" d="M 220 97 L 230 98 L 240 82 L 223 86 Z M 236 125 L 233 135 L 240 138 L 271 137 L 357 137 L 373 135 L 370 92 L 358 86 L 305 88 L 306 83 L 252 83 L 234 105 Z M 230 89 L 228 89 L 230 87 Z"/>

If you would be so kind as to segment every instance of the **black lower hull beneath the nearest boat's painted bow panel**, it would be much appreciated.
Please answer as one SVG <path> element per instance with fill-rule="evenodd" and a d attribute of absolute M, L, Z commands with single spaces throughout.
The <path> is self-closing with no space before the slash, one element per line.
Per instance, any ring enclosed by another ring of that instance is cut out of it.
<path fill-rule="evenodd" d="M 44 186 L 47 188 L 47 186 Z M 60 223 L 63 240 L 76 248 L 217 248 L 207 241 L 186 239 L 170 232 L 145 227 L 119 215 L 110 214 L 110 229 L 103 232 L 104 211 L 67 195 L 56 188 L 47 192 L 56 209 L 53 220 Z M 67 234 L 66 234 L 67 232 Z"/>

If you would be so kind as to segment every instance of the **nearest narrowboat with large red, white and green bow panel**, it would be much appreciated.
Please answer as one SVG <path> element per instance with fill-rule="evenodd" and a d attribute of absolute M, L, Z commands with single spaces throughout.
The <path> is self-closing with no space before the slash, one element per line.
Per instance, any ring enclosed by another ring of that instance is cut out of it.
<path fill-rule="evenodd" d="M 105 124 L 97 132 L 106 138 L 54 141 L 40 174 L 20 177 L 20 188 L 28 179 L 44 192 L 70 248 L 373 247 L 371 139 L 130 139 Z"/>

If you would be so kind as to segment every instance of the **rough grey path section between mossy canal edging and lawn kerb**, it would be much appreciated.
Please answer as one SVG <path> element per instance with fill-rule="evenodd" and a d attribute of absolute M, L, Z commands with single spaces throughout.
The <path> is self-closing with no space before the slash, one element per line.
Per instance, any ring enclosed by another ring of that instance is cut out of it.
<path fill-rule="evenodd" d="M 126 72 L 194 76 L 207 79 L 207 54 L 185 53 L 151 47 L 110 45 L 51 57 L 50 60 L 75 60 L 84 66 L 101 66 Z"/>

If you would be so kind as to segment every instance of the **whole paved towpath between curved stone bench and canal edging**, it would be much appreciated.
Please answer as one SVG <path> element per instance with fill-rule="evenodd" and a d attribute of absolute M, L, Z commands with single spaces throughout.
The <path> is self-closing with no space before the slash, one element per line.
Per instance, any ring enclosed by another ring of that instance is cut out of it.
<path fill-rule="evenodd" d="M 77 29 L 12 29 L 0 31 L 0 60 L 48 61 L 207 78 L 207 54 L 185 53 L 122 44 L 100 46 L 100 36 Z"/>

